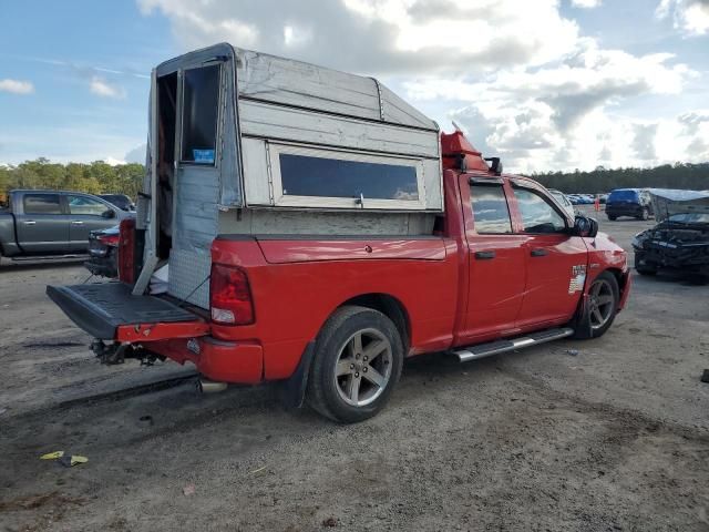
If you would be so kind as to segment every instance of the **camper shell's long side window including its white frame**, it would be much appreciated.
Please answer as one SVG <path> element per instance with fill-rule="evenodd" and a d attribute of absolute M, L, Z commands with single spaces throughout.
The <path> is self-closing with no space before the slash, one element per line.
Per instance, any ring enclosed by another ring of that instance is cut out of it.
<path fill-rule="evenodd" d="M 423 208 L 419 161 L 269 146 L 276 205 L 359 208 Z"/>

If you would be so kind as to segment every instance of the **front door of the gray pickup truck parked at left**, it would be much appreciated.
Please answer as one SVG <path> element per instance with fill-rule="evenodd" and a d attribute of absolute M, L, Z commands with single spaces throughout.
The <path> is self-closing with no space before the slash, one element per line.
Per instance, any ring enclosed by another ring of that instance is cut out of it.
<path fill-rule="evenodd" d="M 69 239 L 72 252 L 85 252 L 89 248 L 89 235 L 92 231 L 107 229 L 117 225 L 115 211 L 97 197 L 84 194 L 66 195 L 69 209 Z"/>

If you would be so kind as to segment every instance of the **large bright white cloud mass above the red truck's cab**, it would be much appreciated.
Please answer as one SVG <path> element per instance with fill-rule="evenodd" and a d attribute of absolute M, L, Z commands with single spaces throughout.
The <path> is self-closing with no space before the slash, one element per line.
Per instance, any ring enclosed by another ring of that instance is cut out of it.
<path fill-rule="evenodd" d="M 511 170 L 643 166 L 706 152 L 698 135 L 709 123 L 626 111 L 640 99 L 681 95 L 698 74 L 668 53 L 602 48 L 562 14 L 559 0 L 260 0 L 248 10 L 232 0 L 199 9 L 193 0 L 136 1 L 169 20 L 183 50 L 226 40 L 381 76 L 439 123 L 461 123 Z M 662 16 L 676 17 L 707 0 L 662 3 Z"/>

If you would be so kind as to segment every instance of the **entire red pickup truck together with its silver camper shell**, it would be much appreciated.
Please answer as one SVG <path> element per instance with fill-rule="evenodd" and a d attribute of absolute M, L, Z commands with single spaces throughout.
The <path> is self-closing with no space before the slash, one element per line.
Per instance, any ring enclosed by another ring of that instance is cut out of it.
<path fill-rule="evenodd" d="M 279 381 L 356 422 L 408 357 L 599 337 L 628 297 L 626 253 L 595 221 L 377 80 L 219 44 L 155 69 L 151 116 L 120 282 L 48 287 L 103 361 Z"/>

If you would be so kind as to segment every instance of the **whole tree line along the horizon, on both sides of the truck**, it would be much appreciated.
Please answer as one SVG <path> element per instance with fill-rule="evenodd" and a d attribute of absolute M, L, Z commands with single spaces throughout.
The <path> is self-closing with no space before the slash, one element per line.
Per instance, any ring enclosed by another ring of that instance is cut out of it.
<path fill-rule="evenodd" d="M 143 186 L 142 164 L 112 166 L 93 163 L 51 163 L 47 158 L 27 161 L 17 166 L 0 166 L 0 196 L 13 188 L 51 188 L 90 194 L 127 194 L 137 197 Z M 592 172 L 546 172 L 532 177 L 548 188 L 567 194 L 595 194 L 613 188 L 687 188 L 709 190 L 709 163 L 665 164 L 654 168 L 614 168 L 598 166 Z"/>

